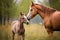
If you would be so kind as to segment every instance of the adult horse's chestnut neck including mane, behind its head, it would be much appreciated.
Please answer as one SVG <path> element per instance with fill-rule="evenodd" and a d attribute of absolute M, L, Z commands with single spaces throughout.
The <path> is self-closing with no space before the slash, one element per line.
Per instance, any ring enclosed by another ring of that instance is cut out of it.
<path fill-rule="evenodd" d="M 55 9 L 47 8 L 42 5 L 37 5 L 37 9 L 38 9 L 38 13 L 42 17 L 42 19 L 44 19 L 46 16 L 49 16 L 50 14 L 52 14 L 53 12 L 56 11 Z"/>

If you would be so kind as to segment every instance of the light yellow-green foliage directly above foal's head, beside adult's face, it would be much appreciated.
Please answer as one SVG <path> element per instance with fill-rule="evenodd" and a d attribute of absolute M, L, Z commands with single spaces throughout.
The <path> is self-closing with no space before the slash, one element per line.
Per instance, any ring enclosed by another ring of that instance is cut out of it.
<path fill-rule="evenodd" d="M 14 18 L 17 18 L 20 12 L 23 12 L 25 15 L 28 13 L 29 5 L 31 4 L 31 0 L 21 0 L 21 3 L 16 4 L 17 10 L 16 14 L 14 14 Z"/>

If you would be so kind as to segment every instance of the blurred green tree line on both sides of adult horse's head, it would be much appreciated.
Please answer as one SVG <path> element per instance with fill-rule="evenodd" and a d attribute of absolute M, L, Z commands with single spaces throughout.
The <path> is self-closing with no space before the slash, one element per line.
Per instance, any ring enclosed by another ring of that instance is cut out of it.
<path fill-rule="evenodd" d="M 0 24 L 8 23 L 10 19 L 17 17 L 21 11 L 23 11 L 25 15 L 27 14 L 31 0 L 21 0 L 22 2 L 18 5 L 13 1 L 14 0 L 0 0 Z M 60 10 L 59 0 L 49 0 L 49 4 L 46 1 L 44 1 L 44 3 L 45 5 Z"/>

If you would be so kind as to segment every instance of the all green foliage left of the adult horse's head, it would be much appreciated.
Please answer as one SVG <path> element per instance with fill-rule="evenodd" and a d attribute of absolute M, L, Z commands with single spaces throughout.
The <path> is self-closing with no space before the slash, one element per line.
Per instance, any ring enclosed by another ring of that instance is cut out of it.
<path fill-rule="evenodd" d="M 0 0 L 0 23 L 9 22 L 10 18 L 17 18 L 20 12 L 28 12 L 31 0 L 21 0 L 21 3 L 16 4 L 13 0 Z"/>

